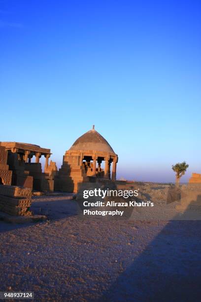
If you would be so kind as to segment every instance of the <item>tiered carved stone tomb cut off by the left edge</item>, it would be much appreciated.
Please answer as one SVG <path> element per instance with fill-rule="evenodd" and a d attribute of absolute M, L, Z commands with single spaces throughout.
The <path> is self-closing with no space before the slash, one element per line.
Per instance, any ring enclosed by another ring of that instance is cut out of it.
<path fill-rule="evenodd" d="M 7 165 L 7 155 L 5 147 L 0 146 L 0 185 L 11 185 L 12 171 Z"/>

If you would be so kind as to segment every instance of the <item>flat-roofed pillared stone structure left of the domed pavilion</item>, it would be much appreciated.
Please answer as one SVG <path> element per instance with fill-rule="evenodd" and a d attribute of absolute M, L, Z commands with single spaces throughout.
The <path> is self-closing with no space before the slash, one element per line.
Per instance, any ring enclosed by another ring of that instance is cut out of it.
<path fill-rule="evenodd" d="M 48 159 L 51 155 L 50 149 L 16 142 L 0 142 L 0 146 L 3 146 L 8 153 L 7 164 L 12 171 L 13 186 L 39 191 L 54 190 L 53 176 L 49 175 L 49 173 L 42 173 L 41 163 L 39 163 L 40 157 L 44 155 L 46 158 L 46 172 L 48 169 Z M 32 162 L 33 156 L 35 156 L 35 162 Z"/>

